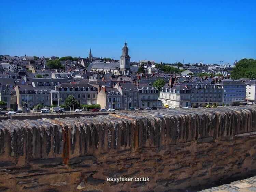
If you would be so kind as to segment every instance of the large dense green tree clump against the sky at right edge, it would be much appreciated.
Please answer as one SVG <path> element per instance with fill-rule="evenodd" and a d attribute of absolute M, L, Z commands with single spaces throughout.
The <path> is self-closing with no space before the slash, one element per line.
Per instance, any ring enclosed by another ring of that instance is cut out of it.
<path fill-rule="evenodd" d="M 256 60 L 241 59 L 231 72 L 232 79 L 250 78 L 256 79 Z"/>

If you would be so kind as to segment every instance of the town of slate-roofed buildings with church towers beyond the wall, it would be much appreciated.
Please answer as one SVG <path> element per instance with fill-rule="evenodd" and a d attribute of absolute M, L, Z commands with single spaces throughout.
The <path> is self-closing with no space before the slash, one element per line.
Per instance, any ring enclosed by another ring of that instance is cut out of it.
<path fill-rule="evenodd" d="M 254 103 L 256 80 L 232 79 L 238 63 L 131 62 L 127 43 L 119 60 L 94 57 L 91 49 L 86 58 L 1 55 L 0 107 L 29 112 L 54 106 L 145 109 Z"/>

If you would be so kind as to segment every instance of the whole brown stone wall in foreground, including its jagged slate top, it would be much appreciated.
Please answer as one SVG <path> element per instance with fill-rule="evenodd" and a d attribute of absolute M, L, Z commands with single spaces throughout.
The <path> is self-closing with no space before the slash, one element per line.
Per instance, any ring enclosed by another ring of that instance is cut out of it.
<path fill-rule="evenodd" d="M 0 191 L 167 191 L 256 170 L 256 107 L 0 122 Z M 150 177 L 109 182 L 108 177 Z"/>

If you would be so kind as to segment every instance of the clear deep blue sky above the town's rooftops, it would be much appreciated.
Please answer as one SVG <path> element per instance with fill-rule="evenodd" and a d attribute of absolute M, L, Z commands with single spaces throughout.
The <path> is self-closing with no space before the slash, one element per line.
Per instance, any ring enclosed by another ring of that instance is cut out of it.
<path fill-rule="evenodd" d="M 256 1 L 1 1 L 0 54 L 233 63 L 256 58 Z"/>

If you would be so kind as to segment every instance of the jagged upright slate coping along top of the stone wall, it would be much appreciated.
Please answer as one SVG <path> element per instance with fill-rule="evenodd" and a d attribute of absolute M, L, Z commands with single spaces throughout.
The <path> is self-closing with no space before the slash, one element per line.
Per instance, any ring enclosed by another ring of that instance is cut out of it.
<path fill-rule="evenodd" d="M 0 161 L 99 156 L 137 148 L 215 139 L 256 131 L 256 107 L 160 110 L 108 116 L 0 122 Z"/>

